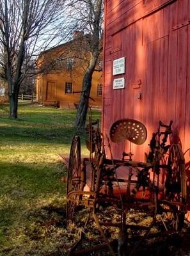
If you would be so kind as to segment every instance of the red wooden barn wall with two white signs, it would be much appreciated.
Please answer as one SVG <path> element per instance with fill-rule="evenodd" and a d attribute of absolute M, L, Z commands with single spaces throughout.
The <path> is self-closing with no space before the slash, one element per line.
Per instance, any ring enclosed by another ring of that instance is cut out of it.
<path fill-rule="evenodd" d="M 173 120 L 174 140 L 190 148 L 189 24 L 190 0 L 105 0 L 102 131 L 120 118 L 145 124 L 148 138 L 132 145 L 134 160 L 143 161 L 159 120 Z M 123 147 L 129 142 L 112 143 L 113 157 Z"/>

